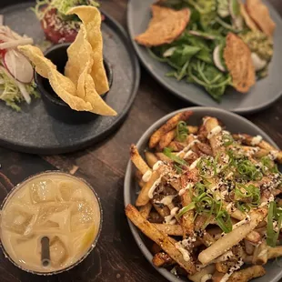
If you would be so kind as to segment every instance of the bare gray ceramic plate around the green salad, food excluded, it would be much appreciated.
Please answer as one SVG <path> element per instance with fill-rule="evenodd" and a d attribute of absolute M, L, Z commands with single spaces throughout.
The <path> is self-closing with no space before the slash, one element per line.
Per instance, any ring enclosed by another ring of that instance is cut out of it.
<path fill-rule="evenodd" d="M 223 97 L 222 102 L 218 104 L 209 96 L 200 86 L 187 84 L 185 81 L 177 82 L 172 77 L 166 77 L 166 73 L 171 70 L 169 65 L 156 61 L 152 58 L 146 48 L 137 45 L 134 41 L 136 35 L 146 30 L 146 26 L 151 18 L 150 5 L 156 0 L 130 0 L 127 7 L 127 25 L 129 35 L 134 43 L 136 53 L 143 65 L 156 78 L 156 80 L 176 96 L 186 102 L 191 102 L 199 106 L 215 106 L 224 108 L 228 111 L 240 114 L 256 112 L 272 103 L 274 103 L 282 94 L 282 80 L 280 69 L 282 68 L 282 56 L 279 50 L 282 49 L 282 20 L 275 9 L 267 4 L 270 15 L 277 24 L 276 35 L 274 36 L 274 45 L 276 52 L 269 66 L 269 75 L 267 78 L 257 82 L 249 93 L 237 93 L 231 87 L 227 89 L 227 94 Z"/>

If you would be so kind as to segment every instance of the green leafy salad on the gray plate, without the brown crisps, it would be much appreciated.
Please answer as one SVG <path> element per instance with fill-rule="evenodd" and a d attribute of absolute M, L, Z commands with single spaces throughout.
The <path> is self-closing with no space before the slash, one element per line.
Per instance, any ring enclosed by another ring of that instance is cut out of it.
<path fill-rule="evenodd" d="M 186 30 L 170 44 L 147 48 L 152 57 L 170 65 L 166 76 L 203 86 L 217 102 L 232 86 L 223 58 L 229 32 L 240 36 L 252 52 L 257 77 L 267 76 L 273 55 L 272 40 L 250 30 L 241 15 L 237 0 L 166 0 L 159 5 L 191 11 Z"/>

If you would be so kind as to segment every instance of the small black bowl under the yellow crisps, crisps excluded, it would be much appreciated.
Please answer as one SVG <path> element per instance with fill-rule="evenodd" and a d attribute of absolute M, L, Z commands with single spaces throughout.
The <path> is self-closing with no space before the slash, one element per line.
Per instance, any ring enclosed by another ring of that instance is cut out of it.
<path fill-rule="evenodd" d="M 70 43 L 64 43 L 60 45 L 54 45 L 45 51 L 45 57 L 52 61 L 56 65 L 57 70 L 64 74 L 65 64 L 67 62 L 66 49 L 69 47 Z M 113 72 L 104 59 L 104 66 L 106 69 L 106 76 L 108 79 L 109 86 L 111 87 L 113 82 Z M 96 114 L 84 111 L 73 110 L 68 106 L 59 96 L 55 94 L 52 86 L 48 79 L 43 76 L 40 76 L 35 72 L 35 83 L 41 92 L 42 99 L 45 103 L 45 108 L 50 116 L 55 117 L 58 120 L 61 120 L 67 124 L 82 124 L 87 123 L 96 118 Z M 103 96 L 106 96 L 104 94 Z"/>

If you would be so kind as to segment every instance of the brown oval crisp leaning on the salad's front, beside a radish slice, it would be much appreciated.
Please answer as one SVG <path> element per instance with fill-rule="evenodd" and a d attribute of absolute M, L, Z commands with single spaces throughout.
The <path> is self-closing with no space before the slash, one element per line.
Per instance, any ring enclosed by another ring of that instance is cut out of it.
<path fill-rule="evenodd" d="M 237 91 L 246 93 L 251 86 L 255 85 L 256 73 L 251 51 L 237 35 L 228 33 L 224 59 L 232 76 L 233 86 Z"/>

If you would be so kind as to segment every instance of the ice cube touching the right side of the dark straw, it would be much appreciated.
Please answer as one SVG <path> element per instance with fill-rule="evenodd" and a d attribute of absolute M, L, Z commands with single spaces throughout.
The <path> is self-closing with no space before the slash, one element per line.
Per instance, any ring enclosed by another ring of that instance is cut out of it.
<path fill-rule="evenodd" d="M 62 266 L 68 257 L 67 248 L 60 237 L 55 236 L 50 241 L 50 258 L 53 267 Z"/>

